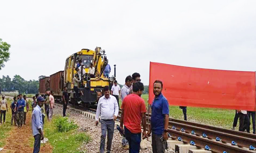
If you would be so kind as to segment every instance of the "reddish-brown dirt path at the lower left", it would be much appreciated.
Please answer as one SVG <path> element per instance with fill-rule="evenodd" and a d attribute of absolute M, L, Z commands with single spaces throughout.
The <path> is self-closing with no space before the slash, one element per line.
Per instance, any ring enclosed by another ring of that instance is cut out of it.
<path fill-rule="evenodd" d="M 31 140 L 31 112 L 27 113 L 26 125 L 21 129 L 17 126 L 10 131 L 10 135 L 5 139 L 5 146 L 1 153 L 32 153 L 31 141 L 34 144 L 34 139 Z M 53 147 L 49 143 L 41 144 L 40 153 L 52 153 Z"/>

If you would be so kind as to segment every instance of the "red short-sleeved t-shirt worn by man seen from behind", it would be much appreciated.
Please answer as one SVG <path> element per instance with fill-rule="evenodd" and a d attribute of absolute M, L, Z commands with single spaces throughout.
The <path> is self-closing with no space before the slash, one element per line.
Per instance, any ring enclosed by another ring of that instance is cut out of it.
<path fill-rule="evenodd" d="M 131 94 L 123 100 L 122 109 L 124 109 L 124 125 L 131 133 L 141 133 L 141 113 L 146 113 L 144 100 Z"/>

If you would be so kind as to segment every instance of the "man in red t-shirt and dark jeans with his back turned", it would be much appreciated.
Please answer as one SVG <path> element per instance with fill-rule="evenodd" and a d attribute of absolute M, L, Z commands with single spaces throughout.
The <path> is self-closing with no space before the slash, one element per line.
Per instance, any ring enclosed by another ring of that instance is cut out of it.
<path fill-rule="evenodd" d="M 141 121 L 143 125 L 142 136 L 146 135 L 146 116 L 147 112 L 145 102 L 141 98 L 144 90 L 143 83 L 136 82 L 133 84 L 133 94 L 124 98 L 122 103 L 122 115 L 120 128 L 125 130 L 125 137 L 129 142 L 129 153 L 140 152 L 141 142 Z M 123 129 L 123 124 L 125 128 Z"/>

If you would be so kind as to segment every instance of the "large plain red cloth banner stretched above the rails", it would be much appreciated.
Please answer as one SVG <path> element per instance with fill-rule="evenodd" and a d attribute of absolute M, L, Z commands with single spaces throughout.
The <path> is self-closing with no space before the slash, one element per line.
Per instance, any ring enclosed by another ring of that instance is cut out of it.
<path fill-rule="evenodd" d="M 153 83 L 163 82 L 169 105 L 255 111 L 255 72 L 202 69 L 150 63 L 149 102 Z"/>

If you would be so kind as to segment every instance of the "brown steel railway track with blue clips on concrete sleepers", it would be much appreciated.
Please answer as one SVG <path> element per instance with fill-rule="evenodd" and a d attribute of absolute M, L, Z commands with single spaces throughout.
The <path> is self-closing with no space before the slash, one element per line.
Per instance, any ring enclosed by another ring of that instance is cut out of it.
<path fill-rule="evenodd" d="M 61 104 L 59 100 L 56 103 Z M 80 105 L 69 107 L 96 113 L 96 109 L 84 108 Z M 117 121 L 120 120 L 120 113 Z M 147 124 L 150 126 L 151 114 L 146 114 Z M 256 135 L 222 129 L 210 125 L 199 124 L 195 122 L 183 121 L 169 118 L 168 132 L 171 139 L 183 141 L 193 146 L 207 148 L 216 153 L 256 153 Z M 192 142 L 193 141 L 193 142 Z"/>

